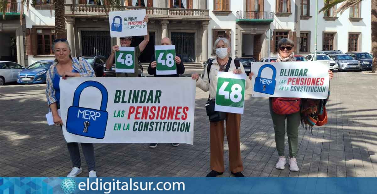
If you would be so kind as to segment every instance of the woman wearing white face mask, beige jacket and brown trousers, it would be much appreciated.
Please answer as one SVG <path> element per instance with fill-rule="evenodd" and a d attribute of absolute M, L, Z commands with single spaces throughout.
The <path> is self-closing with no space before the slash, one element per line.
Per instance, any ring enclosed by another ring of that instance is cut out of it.
<path fill-rule="evenodd" d="M 196 80 L 196 86 L 203 91 L 209 91 L 210 99 L 216 97 L 217 74 L 219 71 L 233 72 L 234 74 L 246 74 L 241 62 L 232 60 L 230 55 L 230 45 L 226 38 L 218 38 L 215 42 L 216 59 L 212 61 L 209 73 L 205 69 L 204 77 L 201 79 L 198 74 L 191 77 Z M 239 65 L 238 65 L 239 64 Z M 227 68 L 228 66 L 228 68 Z M 239 68 L 236 68 L 239 66 Z M 209 75 L 209 77 L 208 77 Z M 249 75 L 251 80 L 252 74 Z M 249 87 L 246 80 L 245 88 Z M 229 146 L 229 169 L 235 177 L 244 177 L 239 129 L 241 124 L 241 114 L 226 113 L 226 134 Z M 211 152 L 211 172 L 207 177 L 216 177 L 224 173 L 224 120 L 210 123 L 210 152 Z"/>

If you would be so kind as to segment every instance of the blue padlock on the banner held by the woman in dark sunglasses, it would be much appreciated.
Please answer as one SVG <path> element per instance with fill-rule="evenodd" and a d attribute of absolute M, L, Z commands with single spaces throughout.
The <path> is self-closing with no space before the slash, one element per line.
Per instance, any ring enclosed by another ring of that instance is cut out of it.
<path fill-rule="evenodd" d="M 261 77 L 264 68 L 271 68 L 273 71 L 272 79 Z M 259 68 L 258 76 L 255 78 L 254 91 L 264 94 L 273 95 L 275 93 L 276 86 L 276 68 L 273 65 L 265 64 Z"/>

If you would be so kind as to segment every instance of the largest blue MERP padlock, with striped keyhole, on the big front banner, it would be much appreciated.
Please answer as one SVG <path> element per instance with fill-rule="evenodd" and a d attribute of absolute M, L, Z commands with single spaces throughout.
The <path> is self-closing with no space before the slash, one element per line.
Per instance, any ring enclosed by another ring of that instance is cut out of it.
<path fill-rule="evenodd" d="M 81 92 L 87 87 L 95 87 L 101 91 L 102 100 L 99 110 L 80 107 Z M 109 113 L 106 111 L 109 94 L 107 89 L 100 82 L 86 81 L 81 83 L 75 90 L 72 106 L 68 108 L 67 132 L 103 139 L 105 137 L 107 118 Z"/>

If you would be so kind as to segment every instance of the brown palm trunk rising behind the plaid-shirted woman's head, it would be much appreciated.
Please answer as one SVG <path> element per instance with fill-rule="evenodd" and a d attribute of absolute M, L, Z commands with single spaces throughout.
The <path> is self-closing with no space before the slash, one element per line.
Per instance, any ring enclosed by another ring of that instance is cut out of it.
<path fill-rule="evenodd" d="M 67 38 L 64 0 L 54 0 L 54 2 L 56 38 Z"/>

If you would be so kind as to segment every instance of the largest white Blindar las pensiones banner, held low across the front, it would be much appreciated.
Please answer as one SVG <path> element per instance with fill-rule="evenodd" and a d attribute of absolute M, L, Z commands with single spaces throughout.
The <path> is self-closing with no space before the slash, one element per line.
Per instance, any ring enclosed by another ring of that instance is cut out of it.
<path fill-rule="evenodd" d="M 190 77 L 61 79 L 64 137 L 82 143 L 193 145 L 195 91 Z"/>

